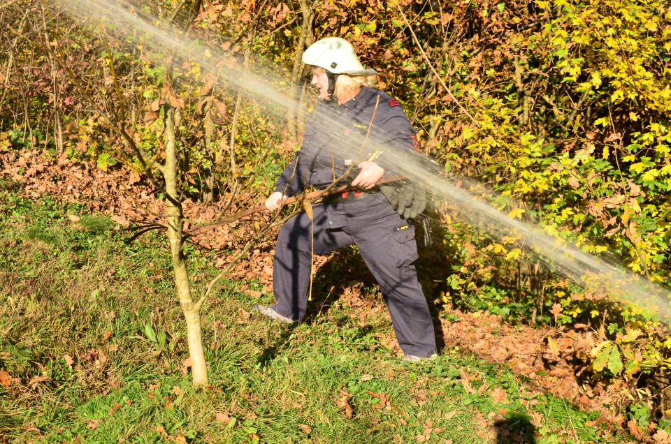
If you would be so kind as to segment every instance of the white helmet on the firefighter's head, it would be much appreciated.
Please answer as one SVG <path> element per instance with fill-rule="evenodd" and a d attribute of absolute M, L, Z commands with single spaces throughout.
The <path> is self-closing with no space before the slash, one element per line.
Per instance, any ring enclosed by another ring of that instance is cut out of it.
<path fill-rule="evenodd" d="M 317 40 L 303 52 L 303 63 L 319 66 L 333 74 L 376 75 L 374 69 L 364 69 L 354 47 L 344 38 Z"/>

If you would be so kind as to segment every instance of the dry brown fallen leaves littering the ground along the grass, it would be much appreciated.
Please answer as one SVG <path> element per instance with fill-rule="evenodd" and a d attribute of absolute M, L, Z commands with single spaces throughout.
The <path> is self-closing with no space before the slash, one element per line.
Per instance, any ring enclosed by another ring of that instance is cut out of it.
<path fill-rule="evenodd" d="M 20 174 L 21 170 L 24 174 Z M 132 223 L 159 222 L 159 214 L 164 213 L 164 202 L 156 197 L 156 190 L 140 179 L 137 172 L 127 168 L 102 171 L 85 161 L 78 161 L 67 156 L 48 158 L 40 151 L 6 151 L 0 153 L 0 177 L 20 182 L 22 193 L 29 198 L 39 198 L 43 195 L 59 197 L 65 203 L 84 205 L 90 212 L 98 212 L 109 216 L 119 228 L 127 228 Z M 222 216 L 229 204 L 230 196 L 223 196 L 219 202 L 203 204 L 185 200 L 184 212 L 189 219 L 189 226 L 196 226 L 216 221 Z M 249 193 L 240 201 L 231 205 L 226 212 L 234 214 L 240 210 L 259 204 L 259 196 Z M 78 223 L 79 216 L 68 215 L 71 223 Z M 229 255 L 220 258 L 216 267 L 223 268 L 239 252 L 245 239 L 257 232 L 260 225 L 268 223 L 270 216 L 263 213 L 247 216 L 229 225 L 222 225 L 192 239 L 206 249 L 228 251 Z M 273 239 L 270 233 L 269 239 Z M 273 243 L 261 241 L 256 249 L 250 251 L 245 260 L 240 260 L 229 274 L 233 279 L 254 280 L 261 284 L 261 290 L 248 286 L 240 288 L 251 297 L 257 298 L 262 294 L 272 293 L 272 261 Z M 319 270 L 329 262 L 327 256 L 315 257 L 315 270 L 319 278 Z M 335 286 L 331 291 L 335 290 Z M 353 319 L 360 325 L 365 325 L 369 316 L 383 316 L 390 321 L 389 313 L 381 298 L 371 300 L 364 295 L 363 286 L 354 281 L 343 281 L 339 284 L 338 300 L 349 309 Z M 508 325 L 500 316 L 491 313 L 468 313 L 456 309 L 444 308 L 449 319 L 458 319 L 456 322 L 440 318 L 442 338 L 439 341 L 446 347 L 460 347 L 470 350 L 489 363 L 510 367 L 514 373 L 531 380 L 533 390 L 549 392 L 563 399 L 567 399 L 584 410 L 598 410 L 605 424 L 616 424 L 627 427 L 637 436 L 639 431 L 633 426 L 625 424 L 625 418 L 615 413 L 613 406 L 624 401 L 627 383 L 615 380 L 609 385 L 586 387 L 579 383 L 578 375 L 584 370 L 575 356 L 580 353 L 589 353 L 596 339 L 591 332 L 578 332 L 551 327 L 529 327 L 526 325 Z M 553 312 L 554 313 L 554 312 Z M 245 310 L 240 311 L 240 317 L 249 316 Z M 449 316 L 449 315 L 454 316 Z M 554 313 L 558 316 L 558 313 Z M 389 330 L 389 329 L 387 329 Z M 107 332 L 109 337 L 111 332 Z M 377 333 L 377 340 L 385 348 L 393 350 L 398 355 L 400 348 L 393 332 Z M 89 350 L 83 360 L 101 362 L 104 355 L 96 350 Z M 577 364 L 575 362 L 578 362 Z M 71 364 L 68 362 L 68 365 Z M 182 372 L 185 373 L 190 362 L 185 361 Z M 475 393 L 470 385 L 474 376 L 461 371 L 461 384 L 464 390 Z M 6 371 L 0 369 L 0 385 L 10 388 L 12 378 Z M 34 381 L 35 382 L 35 381 Z M 484 385 L 482 386 L 484 387 Z M 505 402 L 507 394 L 501 389 L 492 389 L 487 392 L 495 402 Z M 373 396 L 373 394 L 371 394 Z M 380 394 L 380 404 L 386 403 L 384 394 Z M 349 403 L 351 394 L 340 390 L 340 396 L 335 404 L 342 410 L 343 415 L 352 419 L 354 410 Z M 219 418 L 217 418 L 219 420 Z M 483 418 L 484 420 L 484 418 Z M 534 420 L 540 418 L 534 417 Z M 306 433 L 308 426 L 303 429 Z M 159 431 L 160 433 L 160 431 Z M 164 432 L 165 433 L 165 432 Z M 181 436 L 167 436 L 175 442 L 181 442 Z M 419 437 L 418 437 L 419 438 Z M 654 436 L 658 443 L 668 443 L 671 438 L 661 431 Z"/>

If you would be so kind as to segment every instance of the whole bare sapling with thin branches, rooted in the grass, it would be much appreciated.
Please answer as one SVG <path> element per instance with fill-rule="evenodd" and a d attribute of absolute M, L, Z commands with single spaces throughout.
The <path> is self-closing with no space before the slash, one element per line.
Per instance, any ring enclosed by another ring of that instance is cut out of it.
<path fill-rule="evenodd" d="M 113 39 L 110 38 L 110 41 L 112 40 Z M 193 276 L 189 272 L 187 256 L 184 249 L 185 242 L 187 242 L 190 237 L 193 237 L 194 233 L 185 232 L 185 223 L 193 223 L 193 221 L 188 221 L 184 214 L 185 195 L 182 187 L 185 182 L 184 159 L 188 156 L 185 152 L 186 144 L 183 140 L 183 135 L 180 134 L 180 121 L 185 118 L 185 114 L 189 112 L 189 109 L 185 107 L 184 100 L 180 98 L 175 89 L 173 89 L 175 78 L 173 75 L 174 68 L 173 64 L 171 64 L 171 58 L 168 57 L 168 62 L 164 66 L 160 66 L 164 72 L 164 78 L 161 84 L 158 85 L 158 90 L 161 91 L 161 96 L 157 101 L 149 104 L 143 101 L 143 96 L 141 94 L 143 88 L 136 88 L 137 91 L 140 91 L 138 97 L 133 97 L 132 94 L 129 94 L 129 91 L 124 91 L 124 82 L 140 84 L 143 81 L 146 82 L 146 79 L 137 77 L 131 79 L 131 75 L 128 73 L 122 77 L 122 75 L 115 70 L 117 62 L 113 56 L 113 48 L 110 47 L 109 43 L 106 43 L 105 49 L 107 54 L 106 57 L 108 59 L 107 66 L 109 67 L 108 78 L 111 79 L 112 84 L 115 86 L 113 90 L 115 94 L 113 95 L 113 103 L 108 102 L 103 106 L 91 96 L 90 91 L 94 89 L 92 89 L 90 85 L 82 84 L 82 80 L 68 67 L 64 58 L 64 55 L 66 54 L 59 54 L 58 50 L 54 50 L 48 47 L 48 45 L 43 45 L 43 50 L 50 55 L 55 63 L 60 65 L 68 76 L 68 80 L 73 83 L 75 89 L 82 98 L 82 102 L 90 104 L 94 114 L 97 114 L 104 122 L 104 126 L 108 128 L 109 135 L 112 136 L 112 138 L 116 138 L 116 143 L 113 143 L 113 145 L 120 148 L 115 152 L 115 158 L 121 163 L 131 166 L 131 168 L 138 169 L 152 186 L 156 188 L 159 194 L 164 196 L 164 214 L 156 214 L 149 209 L 139 206 L 136 217 L 134 217 L 134 220 L 138 223 L 139 230 L 131 239 L 135 239 L 138 235 L 150 230 L 165 230 L 171 254 L 175 293 L 180 303 L 180 308 L 182 309 L 187 330 L 186 338 L 189 350 L 190 368 L 192 371 L 192 383 L 194 387 L 207 387 L 209 385 L 208 366 L 205 360 L 201 325 L 201 309 L 203 309 L 203 304 L 208 301 L 209 297 L 216 293 L 217 283 L 230 272 L 239 260 L 246 256 L 252 246 L 259 242 L 259 239 L 265 237 L 268 231 L 277 227 L 277 225 L 281 225 L 284 221 L 291 218 L 291 216 L 294 216 L 294 214 L 300 211 L 303 206 L 297 205 L 297 209 L 293 212 L 275 212 L 272 219 L 270 219 L 270 223 L 268 223 L 264 229 L 257 232 L 254 237 L 248 239 L 242 249 L 238 251 L 236 256 L 221 272 L 219 272 L 219 274 L 217 274 L 217 276 L 211 279 L 210 282 L 205 283 L 203 288 L 194 288 L 192 286 Z M 205 75 L 203 75 L 203 78 L 204 77 Z M 148 85 L 145 85 L 145 87 L 149 89 Z M 146 91 L 147 89 L 144 90 Z M 239 101 L 242 93 L 240 92 L 237 96 Z M 152 106 L 155 104 L 159 105 Z M 148 108 L 151 108 L 151 111 L 155 112 L 154 119 L 162 117 L 163 125 L 161 126 L 160 131 L 162 149 L 160 147 L 147 149 L 146 144 L 138 142 L 142 140 L 142 131 L 147 133 L 153 131 L 149 128 L 152 123 L 151 121 L 142 122 L 138 117 Z M 198 112 L 194 112 L 194 116 L 198 114 Z M 196 119 L 194 116 L 189 115 L 189 118 L 193 121 L 201 121 L 203 128 L 208 125 L 207 115 L 201 116 L 200 120 Z M 235 122 L 231 124 L 235 124 Z M 145 127 L 140 128 L 143 125 Z M 208 135 L 210 135 L 210 131 L 208 131 Z M 233 142 L 231 141 L 231 143 Z M 236 155 L 236 152 L 233 149 L 229 152 L 230 156 Z M 268 150 L 261 154 L 257 154 L 257 156 L 259 156 L 259 163 L 263 161 L 267 154 Z M 231 165 L 235 165 L 236 159 L 232 158 L 229 160 Z M 223 175 L 223 172 L 219 172 L 219 174 Z M 257 174 L 258 171 L 254 172 L 252 179 L 254 179 Z M 221 179 L 221 177 L 219 177 L 219 179 Z M 226 182 L 226 177 L 223 177 L 223 179 L 224 182 Z M 228 179 L 231 178 L 229 177 Z M 243 193 L 247 191 L 247 189 L 238 185 L 237 178 L 233 178 L 233 181 L 235 182 L 235 186 L 228 187 L 229 191 L 232 191 L 229 193 L 231 195 L 229 196 L 228 205 L 226 205 L 224 210 L 222 210 L 222 214 L 220 214 L 214 221 L 215 225 L 222 224 L 221 221 L 225 219 L 225 213 L 231 207 L 235 206 L 240 201 Z M 126 191 L 130 193 L 128 189 Z M 134 198 L 134 196 L 131 196 L 131 198 Z M 280 215 L 282 217 L 280 217 Z M 217 221 L 219 222 L 218 224 L 216 224 Z M 196 295 L 199 295 L 199 297 Z"/>

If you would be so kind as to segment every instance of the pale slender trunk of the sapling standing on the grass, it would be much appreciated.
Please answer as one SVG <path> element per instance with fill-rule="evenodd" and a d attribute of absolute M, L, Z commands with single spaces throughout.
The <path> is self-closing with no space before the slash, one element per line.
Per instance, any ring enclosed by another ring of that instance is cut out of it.
<path fill-rule="evenodd" d="M 189 285 L 189 274 L 182 254 L 184 243 L 184 216 L 182 202 L 178 191 L 178 155 L 175 137 L 175 108 L 166 105 L 166 216 L 168 219 L 168 239 L 175 272 L 175 288 L 182 306 L 182 313 L 187 323 L 187 343 L 191 357 L 191 369 L 194 386 L 208 385 L 208 368 L 203 350 L 201 334 L 201 316 L 194 304 Z"/>

